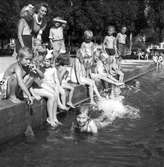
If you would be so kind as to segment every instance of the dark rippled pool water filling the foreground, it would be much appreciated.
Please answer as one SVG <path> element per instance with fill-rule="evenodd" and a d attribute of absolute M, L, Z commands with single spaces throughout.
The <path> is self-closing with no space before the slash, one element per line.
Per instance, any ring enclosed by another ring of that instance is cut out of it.
<path fill-rule="evenodd" d="M 36 142 L 13 141 L 0 149 L 2 167 L 164 167 L 164 72 L 138 78 L 140 90 L 124 88 L 124 102 L 139 119 L 116 119 L 97 135 L 74 134 L 74 112 L 57 130 L 43 127 Z"/>

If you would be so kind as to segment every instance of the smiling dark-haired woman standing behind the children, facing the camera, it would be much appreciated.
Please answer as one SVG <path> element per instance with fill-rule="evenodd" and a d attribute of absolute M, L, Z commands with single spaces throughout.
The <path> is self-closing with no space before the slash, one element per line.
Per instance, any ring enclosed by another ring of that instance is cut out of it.
<path fill-rule="evenodd" d="M 33 37 L 34 40 L 37 39 L 42 41 L 42 33 L 47 26 L 46 14 L 48 12 L 48 4 L 40 3 L 38 10 L 33 15 Z"/>

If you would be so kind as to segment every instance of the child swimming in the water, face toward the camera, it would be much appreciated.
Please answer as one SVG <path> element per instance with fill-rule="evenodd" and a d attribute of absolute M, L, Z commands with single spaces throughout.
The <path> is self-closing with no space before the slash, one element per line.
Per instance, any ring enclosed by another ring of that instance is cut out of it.
<path fill-rule="evenodd" d="M 88 115 L 89 105 L 80 107 L 80 114 L 76 117 L 76 124 L 73 124 L 73 129 L 79 132 L 95 134 L 99 129 L 106 127 L 111 123 L 108 117 L 101 115 L 98 118 L 91 119 Z"/>

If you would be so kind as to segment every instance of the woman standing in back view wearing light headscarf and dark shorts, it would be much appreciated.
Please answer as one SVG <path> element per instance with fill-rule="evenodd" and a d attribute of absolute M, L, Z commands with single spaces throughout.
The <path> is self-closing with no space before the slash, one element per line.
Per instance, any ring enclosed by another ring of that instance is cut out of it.
<path fill-rule="evenodd" d="M 32 16 L 33 5 L 24 6 L 20 12 L 20 20 L 18 22 L 18 40 L 16 41 L 16 51 L 20 48 L 28 47 L 32 49 Z"/>

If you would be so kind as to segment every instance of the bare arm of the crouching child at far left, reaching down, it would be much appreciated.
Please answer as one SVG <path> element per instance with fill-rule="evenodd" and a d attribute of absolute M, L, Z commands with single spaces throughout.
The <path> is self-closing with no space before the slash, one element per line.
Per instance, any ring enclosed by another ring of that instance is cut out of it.
<path fill-rule="evenodd" d="M 16 67 L 15 73 L 16 73 L 16 77 L 17 77 L 18 84 L 19 84 L 20 88 L 26 93 L 30 102 L 33 103 L 32 96 L 31 96 L 30 92 L 28 91 L 28 89 L 23 81 L 22 70 L 19 66 Z"/>

